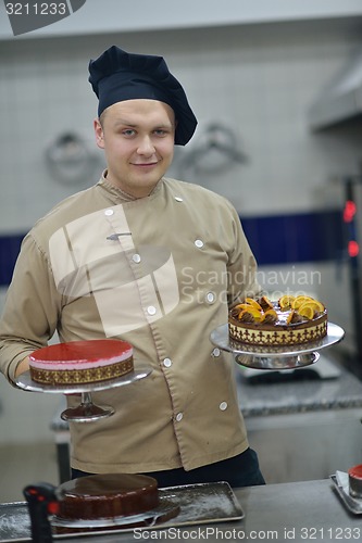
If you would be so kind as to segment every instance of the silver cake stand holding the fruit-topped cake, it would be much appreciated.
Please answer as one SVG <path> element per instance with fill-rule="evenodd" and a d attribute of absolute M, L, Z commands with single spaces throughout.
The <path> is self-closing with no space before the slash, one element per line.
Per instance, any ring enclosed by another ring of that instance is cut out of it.
<path fill-rule="evenodd" d="M 211 342 L 223 351 L 233 353 L 235 362 L 240 366 L 254 369 L 295 369 L 315 364 L 319 351 L 332 346 L 342 340 L 345 330 L 333 323 L 327 324 L 327 334 L 310 343 L 301 345 L 262 346 L 248 345 L 234 341 L 228 333 L 228 325 L 222 325 L 211 332 Z"/>

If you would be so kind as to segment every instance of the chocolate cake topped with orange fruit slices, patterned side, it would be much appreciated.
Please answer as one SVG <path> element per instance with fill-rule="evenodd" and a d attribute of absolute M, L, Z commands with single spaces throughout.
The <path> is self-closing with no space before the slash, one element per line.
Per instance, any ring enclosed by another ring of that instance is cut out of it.
<path fill-rule="evenodd" d="M 228 329 L 230 338 L 250 345 L 299 345 L 327 334 L 327 311 L 307 295 L 247 298 L 230 311 Z"/>

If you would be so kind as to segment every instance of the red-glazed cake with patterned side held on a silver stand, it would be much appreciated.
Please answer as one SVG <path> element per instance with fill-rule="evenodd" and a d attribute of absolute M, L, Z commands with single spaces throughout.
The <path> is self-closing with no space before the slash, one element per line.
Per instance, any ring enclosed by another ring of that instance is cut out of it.
<path fill-rule="evenodd" d="M 133 346 L 121 340 L 71 341 L 29 356 L 30 377 L 42 384 L 86 384 L 134 369 Z"/>

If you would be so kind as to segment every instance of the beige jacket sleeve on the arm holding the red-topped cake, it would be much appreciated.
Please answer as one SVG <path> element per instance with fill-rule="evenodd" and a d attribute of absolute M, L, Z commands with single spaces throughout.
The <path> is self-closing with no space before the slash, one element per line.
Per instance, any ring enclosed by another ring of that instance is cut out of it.
<path fill-rule="evenodd" d="M 0 371 L 10 382 L 17 364 L 53 336 L 60 301 L 45 251 L 29 232 L 23 240 L 0 320 Z"/>

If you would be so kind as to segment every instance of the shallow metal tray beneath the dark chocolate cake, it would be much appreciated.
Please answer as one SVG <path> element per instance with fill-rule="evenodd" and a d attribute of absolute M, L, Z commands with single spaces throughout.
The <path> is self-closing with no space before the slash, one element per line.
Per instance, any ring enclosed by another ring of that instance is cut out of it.
<path fill-rule="evenodd" d="M 152 526 L 152 530 L 241 520 L 245 516 L 233 489 L 224 481 L 167 487 L 160 489 L 160 497 L 161 500 L 166 500 L 168 503 L 178 505 L 179 514 L 166 522 Z M 149 530 L 150 527 L 137 528 L 137 530 L 142 529 Z M 133 531 L 133 529 L 123 527 L 117 530 L 113 527 L 112 534 L 129 531 Z M 92 531 L 91 533 L 89 531 L 74 534 L 54 533 L 53 539 L 109 533 L 104 529 Z M 32 541 L 30 519 L 26 502 L 0 504 L 0 541 L 1 543 Z"/>

